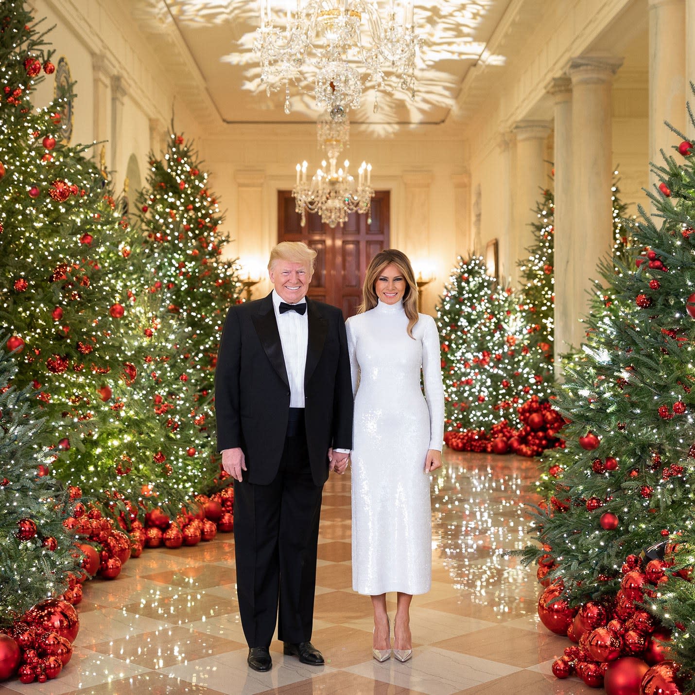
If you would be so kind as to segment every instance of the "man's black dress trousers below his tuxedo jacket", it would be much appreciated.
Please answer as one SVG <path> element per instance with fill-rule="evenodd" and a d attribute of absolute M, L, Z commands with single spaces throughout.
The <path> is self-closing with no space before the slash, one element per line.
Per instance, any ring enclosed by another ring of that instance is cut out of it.
<path fill-rule="evenodd" d="M 311 639 L 323 486 L 311 477 L 301 425 L 288 429 L 270 485 L 234 481 L 237 594 L 250 647 L 270 646 L 278 614 L 279 639 Z"/>

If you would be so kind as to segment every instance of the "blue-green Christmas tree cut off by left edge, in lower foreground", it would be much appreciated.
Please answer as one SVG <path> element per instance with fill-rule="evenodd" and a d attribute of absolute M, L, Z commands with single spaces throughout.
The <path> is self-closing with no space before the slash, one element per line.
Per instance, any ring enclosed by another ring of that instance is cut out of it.
<path fill-rule="evenodd" d="M 0 349 L 0 628 L 38 602 L 59 596 L 79 572 L 74 533 L 63 527 L 74 502 L 49 474 L 49 454 L 35 447 L 43 421 L 31 390 Z"/>

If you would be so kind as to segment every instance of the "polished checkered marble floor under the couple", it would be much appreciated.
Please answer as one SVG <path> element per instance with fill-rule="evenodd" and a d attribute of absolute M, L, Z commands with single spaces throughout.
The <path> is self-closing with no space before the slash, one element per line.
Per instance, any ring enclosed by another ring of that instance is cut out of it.
<path fill-rule="evenodd" d="M 536 616 L 535 568 L 505 551 L 524 544 L 521 506 L 533 460 L 445 451 L 432 486 L 432 591 L 411 606 L 412 660 L 371 657 L 370 600 L 352 591 L 350 479 L 332 476 L 323 497 L 313 644 L 326 665 L 304 666 L 271 646 L 272 671 L 246 664 L 236 602 L 234 540 L 218 534 L 194 548 L 146 550 L 113 582 L 85 585 L 72 661 L 47 694 L 314 693 L 515 695 L 596 692 L 556 680 L 553 659 L 570 643 Z M 389 595 L 395 613 L 395 594 Z"/>

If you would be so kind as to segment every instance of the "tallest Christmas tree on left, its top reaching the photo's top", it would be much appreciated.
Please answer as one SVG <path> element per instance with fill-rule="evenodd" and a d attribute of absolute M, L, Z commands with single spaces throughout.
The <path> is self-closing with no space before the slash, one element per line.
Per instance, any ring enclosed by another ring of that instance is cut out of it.
<path fill-rule="evenodd" d="M 151 360 L 148 307 L 126 281 L 138 262 L 128 224 L 86 148 L 56 137 L 72 88 L 33 109 L 40 72 L 54 70 L 45 35 L 21 2 L 1 14 L 0 320 L 15 383 L 31 385 L 47 421 L 36 446 L 53 449 L 56 477 L 105 509 L 175 513 L 193 490 L 168 479 L 165 433 L 132 389 Z"/>

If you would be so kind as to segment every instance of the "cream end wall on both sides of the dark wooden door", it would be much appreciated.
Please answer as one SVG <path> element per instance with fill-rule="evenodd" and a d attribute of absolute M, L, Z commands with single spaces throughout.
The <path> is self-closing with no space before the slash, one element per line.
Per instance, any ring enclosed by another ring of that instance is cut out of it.
<path fill-rule="evenodd" d="M 277 191 L 292 188 L 297 162 L 306 159 L 315 170 L 321 154 L 313 126 L 242 126 L 236 133 L 224 141 L 204 140 L 201 150 L 227 209 L 229 256 L 263 276 L 254 288 L 254 296 L 262 296 L 270 289 L 265 263 L 277 243 Z M 436 133 L 381 140 L 353 135 L 343 158 L 351 168 L 370 161 L 373 187 L 391 191 L 391 246 L 404 250 L 423 275 L 432 275 L 423 292 L 423 309 L 432 312 L 458 252 L 455 175 L 465 170 L 464 143 Z M 468 220 L 465 225 L 468 230 Z"/>

